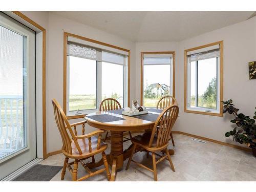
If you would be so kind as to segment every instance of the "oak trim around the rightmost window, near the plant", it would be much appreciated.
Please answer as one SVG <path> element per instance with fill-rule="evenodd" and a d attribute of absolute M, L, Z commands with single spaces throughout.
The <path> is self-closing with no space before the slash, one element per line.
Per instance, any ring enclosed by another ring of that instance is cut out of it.
<path fill-rule="evenodd" d="M 220 99 L 219 99 L 220 100 L 219 101 L 220 102 L 220 112 L 219 113 L 211 113 L 211 112 L 187 110 L 187 52 L 195 51 L 198 49 L 211 47 L 211 46 L 215 46 L 215 45 L 220 46 Z M 184 112 L 222 117 L 223 116 L 223 112 L 222 112 L 223 103 L 221 101 L 223 101 L 223 40 L 184 50 Z"/>

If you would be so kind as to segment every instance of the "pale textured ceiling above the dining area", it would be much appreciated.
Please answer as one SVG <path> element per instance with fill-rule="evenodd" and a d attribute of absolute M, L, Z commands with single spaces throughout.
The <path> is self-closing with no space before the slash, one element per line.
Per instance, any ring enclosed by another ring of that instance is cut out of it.
<path fill-rule="evenodd" d="M 136 42 L 180 41 L 248 19 L 253 11 L 52 11 Z"/>

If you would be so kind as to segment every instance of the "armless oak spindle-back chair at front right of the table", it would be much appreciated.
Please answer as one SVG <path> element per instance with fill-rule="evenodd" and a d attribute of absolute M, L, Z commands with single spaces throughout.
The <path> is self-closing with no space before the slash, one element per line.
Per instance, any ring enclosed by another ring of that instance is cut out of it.
<path fill-rule="evenodd" d="M 131 161 L 133 161 L 139 166 L 153 172 L 154 180 L 157 181 L 156 165 L 162 160 L 168 158 L 170 167 L 175 172 L 174 165 L 173 165 L 172 159 L 170 158 L 167 146 L 169 144 L 168 137 L 170 135 L 170 132 L 172 131 L 173 125 L 178 117 L 178 114 L 179 114 L 179 107 L 177 105 L 168 106 L 165 110 L 163 110 L 163 112 L 157 118 L 155 125 L 153 127 L 152 133 L 144 133 L 143 135 L 138 135 L 132 138 L 132 143 L 134 145 L 133 145 L 132 154 L 129 158 L 126 169 L 129 168 Z M 157 126 L 159 126 L 158 134 L 156 134 Z M 137 145 L 139 147 L 142 147 L 145 151 L 152 153 L 153 169 L 148 168 L 147 166 L 132 160 L 133 154 L 136 150 Z M 156 152 L 161 152 L 163 150 L 165 151 L 165 154 L 166 154 L 164 156 L 161 156 L 156 153 Z M 160 159 L 156 160 L 156 155 L 160 156 Z"/>

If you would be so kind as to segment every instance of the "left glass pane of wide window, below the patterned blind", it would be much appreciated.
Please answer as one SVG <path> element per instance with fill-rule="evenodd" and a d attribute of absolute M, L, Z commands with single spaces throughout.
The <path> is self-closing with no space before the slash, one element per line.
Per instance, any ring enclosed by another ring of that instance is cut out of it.
<path fill-rule="evenodd" d="M 96 109 L 96 61 L 69 57 L 69 111 Z"/>

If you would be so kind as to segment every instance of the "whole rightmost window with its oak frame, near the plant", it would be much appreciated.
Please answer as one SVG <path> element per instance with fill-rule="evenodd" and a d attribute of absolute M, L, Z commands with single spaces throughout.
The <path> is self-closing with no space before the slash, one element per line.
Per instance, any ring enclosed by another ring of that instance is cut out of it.
<path fill-rule="evenodd" d="M 185 112 L 222 115 L 222 44 L 185 50 Z"/>

